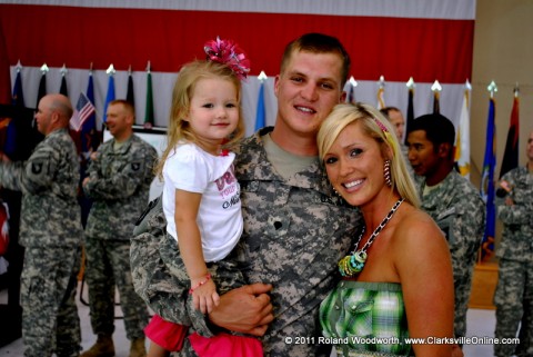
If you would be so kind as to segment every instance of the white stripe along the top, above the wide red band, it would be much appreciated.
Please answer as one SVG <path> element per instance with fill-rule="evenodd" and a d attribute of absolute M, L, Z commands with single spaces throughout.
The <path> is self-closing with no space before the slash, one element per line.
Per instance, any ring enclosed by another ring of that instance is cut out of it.
<path fill-rule="evenodd" d="M 476 0 L 0 0 L 81 8 L 306 13 L 474 20 Z"/>

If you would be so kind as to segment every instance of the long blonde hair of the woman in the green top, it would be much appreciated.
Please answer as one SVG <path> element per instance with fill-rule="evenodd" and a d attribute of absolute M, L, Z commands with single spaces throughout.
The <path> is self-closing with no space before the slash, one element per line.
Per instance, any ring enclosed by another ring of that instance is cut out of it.
<path fill-rule="evenodd" d="M 351 123 L 359 122 L 365 135 L 373 138 L 381 146 L 382 156 L 391 160 L 392 191 L 414 207 L 420 207 L 420 197 L 414 181 L 408 171 L 405 158 L 400 149 L 396 136 L 389 120 L 375 108 L 364 103 L 343 103 L 333 108 L 325 118 L 318 133 L 320 159 L 333 146 L 341 131 Z M 390 153 L 392 157 L 390 157 Z"/>

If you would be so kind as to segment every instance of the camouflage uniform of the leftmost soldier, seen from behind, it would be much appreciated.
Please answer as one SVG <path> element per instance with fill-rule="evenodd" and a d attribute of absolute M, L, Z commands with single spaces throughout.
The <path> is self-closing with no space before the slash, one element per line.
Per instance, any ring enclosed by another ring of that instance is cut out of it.
<path fill-rule="evenodd" d="M 82 237 L 79 178 L 67 129 L 50 132 L 27 161 L 0 163 L 0 185 L 22 191 L 22 340 L 28 357 L 80 354 L 74 301 Z"/>

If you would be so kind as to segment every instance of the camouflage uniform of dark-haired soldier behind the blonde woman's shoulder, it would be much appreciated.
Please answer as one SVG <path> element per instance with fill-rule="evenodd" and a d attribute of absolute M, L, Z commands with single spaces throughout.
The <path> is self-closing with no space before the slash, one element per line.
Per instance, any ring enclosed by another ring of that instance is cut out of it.
<path fill-rule="evenodd" d="M 455 292 L 454 334 L 465 336 L 472 275 L 485 228 L 485 204 L 472 184 L 455 170 L 425 196 L 425 179 L 418 177 L 418 180 L 421 208 L 435 220 L 447 239 Z"/>

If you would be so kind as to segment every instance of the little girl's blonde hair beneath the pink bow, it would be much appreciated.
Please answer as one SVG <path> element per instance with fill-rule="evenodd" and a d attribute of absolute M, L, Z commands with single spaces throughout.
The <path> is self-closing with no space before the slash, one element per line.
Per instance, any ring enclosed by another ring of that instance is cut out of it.
<path fill-rule="evenodd" d="M 242 87 L 240 79 L 225 65 L 209 60 L 195 60 L 184 65 L 178 73 L 174 89 L 172 91 L 172 106 L 170 108 L 169 128 L 167 135 L 167 148 L 155 166 L 155 173 L 161 178 L 164 161 L 179 141 L 195 142 L 197 136 L 191 126 L 184 119 L 189 115 L 191 98 L 200 79 L 219 78 L 232 82 L 237 89 L 237 101 L 239 103 L 239 121 L 235 130 L 224 143 L 224 149 L 231 149 L 244 136 L 244 121 L 242 118 L 241 95 Z"/>

